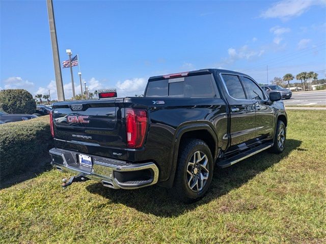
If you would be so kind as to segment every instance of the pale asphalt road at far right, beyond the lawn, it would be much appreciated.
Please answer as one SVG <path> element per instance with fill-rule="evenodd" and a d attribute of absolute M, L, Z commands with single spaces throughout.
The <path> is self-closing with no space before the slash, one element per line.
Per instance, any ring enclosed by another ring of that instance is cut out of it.
<path fill-rule="evenodd" d="M 291 99 L 284 99 L 283 102 L 288 107 L 293 105 L 326 105 L 326 90 L 294 92 Z"/>

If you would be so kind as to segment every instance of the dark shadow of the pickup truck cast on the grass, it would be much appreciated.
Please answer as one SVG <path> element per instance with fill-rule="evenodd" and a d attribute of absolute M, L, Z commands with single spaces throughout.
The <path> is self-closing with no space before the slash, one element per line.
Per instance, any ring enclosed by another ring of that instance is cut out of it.
<path fill-rule="evenodd" d="M 141 188 L 138 190 L 113 190 L 103 187 L 100 183 L 87 186 L 90 193 L 98 194 L 109 201 L 98 206 L 110 207 L 111 203 L 121 203 L 128 207 L 160 217 L 175 217 L 182 215 L 185 211 L 192 210 L 213 199 L 221 197 L 233 189 L 239 188 L 257 174 L 265 171 L 271 166 L 286 158 L 292 150 L 302 150 L 302 141 L 288 139 L 286 149 L 280 155 L 263 151 L 257 155 L 243 160 L 225 169 L 214 169 L 211 187 L 206 196 L 193 204 L 178 202 L 170 194 L 171 189 L 158 186 Z"/>

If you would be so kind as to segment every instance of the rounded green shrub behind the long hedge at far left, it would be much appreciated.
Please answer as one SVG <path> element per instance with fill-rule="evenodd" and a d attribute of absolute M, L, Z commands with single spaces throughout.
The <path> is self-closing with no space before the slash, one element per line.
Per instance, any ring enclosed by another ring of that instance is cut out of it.
<path fill-rule="evenodd" d="M 35 113 L 35 100 L 27 90 L 0 90 L 0 110 L 7 113 Z"/>

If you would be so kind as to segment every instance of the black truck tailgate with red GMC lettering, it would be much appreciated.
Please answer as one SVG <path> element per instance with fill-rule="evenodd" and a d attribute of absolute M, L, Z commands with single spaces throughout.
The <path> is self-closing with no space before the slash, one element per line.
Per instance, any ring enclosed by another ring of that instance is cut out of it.
<path fill-rule="evenodd" d="M 54 105 L 56 147 L 126 160 L 123 100 L 119 100 Z"/>

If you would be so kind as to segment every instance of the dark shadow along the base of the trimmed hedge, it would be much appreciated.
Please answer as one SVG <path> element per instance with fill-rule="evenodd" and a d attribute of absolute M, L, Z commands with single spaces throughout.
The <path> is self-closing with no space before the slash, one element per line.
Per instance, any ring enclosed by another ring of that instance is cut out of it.
<path fill-rule="evenodd" d="M 50 155 L 45 154 L 40 157 L 39 161 L 30 165 L 30 167 L 25 167 L 23 170 L 15 172 L 14 174 L 6 175 L 3 178 L 0 177 L 0 190 L 11 187 L 12 185 L 18 184 L 22 181 L 35 178 L 40 173 L 51 169 L 50 161 Z"/>

